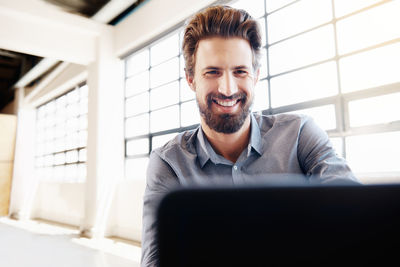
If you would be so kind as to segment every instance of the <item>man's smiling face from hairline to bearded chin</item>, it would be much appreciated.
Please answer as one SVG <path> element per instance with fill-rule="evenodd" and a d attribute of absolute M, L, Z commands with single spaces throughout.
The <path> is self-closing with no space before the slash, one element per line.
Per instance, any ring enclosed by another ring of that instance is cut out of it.
<path fill-rule="evenodd" d="M 234 133 L 243 126 L 258 79 L 246 40 L 220 37 L 201 40 L 194 77 L 186 78 L 196 92 L 202 123 L 220 133 Z"/>

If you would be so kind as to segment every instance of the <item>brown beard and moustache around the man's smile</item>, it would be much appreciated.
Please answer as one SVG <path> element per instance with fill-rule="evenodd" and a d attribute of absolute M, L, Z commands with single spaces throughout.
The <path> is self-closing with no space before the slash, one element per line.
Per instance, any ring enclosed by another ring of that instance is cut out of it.
<path fill-rule="evenodd" d="M 212 111 L 213 99 L 240 99 L 240 110 L 236 114 L 223 113 L 215 114 Z M 199 107 L 200 115 L 203 117 L 205 123 L 218 133 L 231 134 L 237 132 L 242 128 L 246 118 L 250 114 L 250 108 L 253 104 L 253 98 L 249 99 L 247 94 L 239 93 L 227 97 L 222 94 L 208 94 L 206 97 L 206 104 L 201 104 L 198 97 L 196 97 L 196 102 Z"/>

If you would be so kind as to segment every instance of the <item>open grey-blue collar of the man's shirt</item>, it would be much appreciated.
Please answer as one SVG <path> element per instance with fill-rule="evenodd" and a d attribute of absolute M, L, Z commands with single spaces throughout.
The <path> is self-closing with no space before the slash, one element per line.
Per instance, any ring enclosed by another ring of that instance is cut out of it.
<path fill-rule="evenodd" d="M 258 123 L 254 117 L 254 115 L 250 114 L 250 125 L 251 125 L 251 132 L 250 132 L 250 141 L 247 150 L 247 156 L 250 156 L 252 148 L 259 154 L 262 155 L 262 140 L 261 140 L 261 133 Z M 226 160 L 222 156 L 215 153 L 214 149 L 212 148 L 211 144 L 208 142 L 205 134 L 203 132 L 202 127 L 200 126 L 197 132 L 197 156 L 199 159 L 200 167 L 203 168 L 204 165 L 207 163 L 208 160 L 211 160 L 215 164 L 218 163 L 230 163 L 230 161 Z"/>

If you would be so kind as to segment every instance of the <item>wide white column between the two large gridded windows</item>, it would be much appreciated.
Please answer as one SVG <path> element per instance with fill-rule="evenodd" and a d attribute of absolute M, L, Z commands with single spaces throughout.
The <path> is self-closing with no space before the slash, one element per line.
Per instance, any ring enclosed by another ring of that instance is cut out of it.
<path fill-rule="evenodd" d="M 99 36 L 88 67 L 87 180 L 82 235 L 102 237 L 113 192 L 124 176 L 124 65 L 114 56 L 113 29 Z"/>

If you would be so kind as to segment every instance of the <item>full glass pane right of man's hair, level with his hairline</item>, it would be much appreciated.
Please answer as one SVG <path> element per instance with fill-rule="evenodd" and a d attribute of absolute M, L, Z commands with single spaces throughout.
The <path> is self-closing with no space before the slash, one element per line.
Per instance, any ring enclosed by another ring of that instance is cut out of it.
<path fill-rule="evenodd" d="M 331 19 L 331 0 L 299 1 L 268 17 L 268 42 L 277 42 Z"/>

